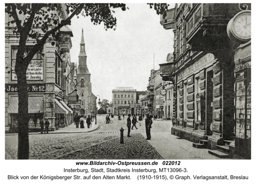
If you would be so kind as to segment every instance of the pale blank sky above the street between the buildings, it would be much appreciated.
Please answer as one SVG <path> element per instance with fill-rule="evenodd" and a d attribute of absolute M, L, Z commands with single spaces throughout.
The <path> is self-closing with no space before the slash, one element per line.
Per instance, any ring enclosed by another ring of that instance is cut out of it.
<path fill-rule="evenodd" d="M 151 69 L 159 69 L 160 63 L 166 63 L 168 53 L 173 52 L 174 33 L 163 29 L 160 15 L 154 9 L 146 3 L 126 4 L 126 7 L 129 8 L 126 11 L 113 9 L 116 31 L 105 31 L 103 23 L 95 26 L 90 17 L 81 16 L 73 17 L 69 26 L 74 36 L 71 62 L 78 64 L 83 29 L 92 92 L 109 102 L 117 86 L 146 91 Z"/>

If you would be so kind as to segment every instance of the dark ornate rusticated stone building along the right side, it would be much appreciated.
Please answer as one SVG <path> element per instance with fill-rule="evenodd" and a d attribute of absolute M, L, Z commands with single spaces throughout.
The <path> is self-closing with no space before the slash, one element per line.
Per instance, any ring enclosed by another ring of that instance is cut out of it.
<path fill-rule="evenodd" d="M 250 158 L 250 43 L 240 45 L 227 32 L 245 13 L 239 5 L 182 3 L 161 16 L 175 38 L 174 62 L 160 66 L 160 75 L 175 84 L 172 134 L 219 157 Z"/>

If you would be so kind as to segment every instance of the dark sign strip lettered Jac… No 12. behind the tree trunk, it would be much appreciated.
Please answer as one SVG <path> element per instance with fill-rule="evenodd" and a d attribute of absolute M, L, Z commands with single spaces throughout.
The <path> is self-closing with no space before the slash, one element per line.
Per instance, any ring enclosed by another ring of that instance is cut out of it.
<path fill-rule="evenodd" d="M 27 90 L 28 92 L 45 92 L 45 84 L 30 83 Z M 18 84 L 5 84 L 5 92 L 18 92 Z"/>

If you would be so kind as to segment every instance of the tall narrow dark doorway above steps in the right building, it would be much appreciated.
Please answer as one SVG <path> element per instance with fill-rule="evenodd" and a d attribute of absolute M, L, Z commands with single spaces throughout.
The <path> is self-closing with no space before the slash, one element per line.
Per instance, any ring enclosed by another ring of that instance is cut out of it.
<path fill-rule="evenodd" d="M 206 133 L 212 135 L 212 112 L 213 112 L 213 72 L 212 70 L 207 72 L 207 88 L 206 88 Z"/>

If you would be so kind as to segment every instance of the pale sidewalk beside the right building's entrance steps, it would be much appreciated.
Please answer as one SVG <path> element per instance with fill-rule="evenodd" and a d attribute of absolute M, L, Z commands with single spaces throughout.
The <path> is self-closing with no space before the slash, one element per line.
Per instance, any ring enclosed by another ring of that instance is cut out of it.
<path fill-rule="evenodd" d="M 146 134 L 142 134 L 146 138 Z M 151 132 L 151 140 L 147 140 L 152 147 L 167 160 L 170 159 L 222 159 L 208 153 L 208 149 L 196 149 L 192 142 L 172 135 L 171 132 Z M 225 159 L 229 160 L 229 159 Z"/>

